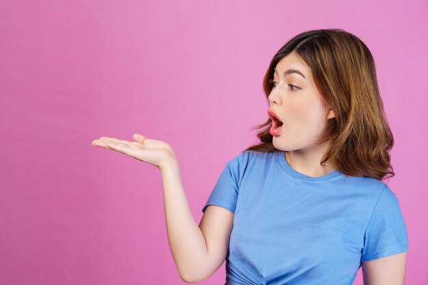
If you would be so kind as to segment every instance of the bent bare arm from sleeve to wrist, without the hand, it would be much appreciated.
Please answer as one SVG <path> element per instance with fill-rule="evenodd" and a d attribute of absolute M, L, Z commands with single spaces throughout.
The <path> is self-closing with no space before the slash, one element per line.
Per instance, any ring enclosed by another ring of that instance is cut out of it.
<path fill-rule="evenodd" d="M 210 205 L 200 224 L 190 211 L 176 159 L 159 167 L 168 241 L 178 273 L 187 283 L 206 280 L 226 259 L 233 213 Z"/>

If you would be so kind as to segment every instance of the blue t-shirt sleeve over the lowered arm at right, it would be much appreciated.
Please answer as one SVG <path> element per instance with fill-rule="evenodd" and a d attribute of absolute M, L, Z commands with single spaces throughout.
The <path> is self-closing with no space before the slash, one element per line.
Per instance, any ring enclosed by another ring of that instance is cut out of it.
<path fill-rule="evenodd" d="M 407 229 L 399 200 L 385 185 L 364 234 L 361 262 L 408 250 Z"/>

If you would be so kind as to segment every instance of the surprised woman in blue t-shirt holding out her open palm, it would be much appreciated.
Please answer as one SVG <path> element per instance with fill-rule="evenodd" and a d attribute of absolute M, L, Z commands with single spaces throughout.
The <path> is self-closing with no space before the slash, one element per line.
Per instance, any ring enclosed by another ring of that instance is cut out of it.
<path fill-rule="evenodd" d="M 402 285 L 407 230 L 388 151 L 394 140 L 373 57 L 356 36 L 319 29 L 276 53 L 263 87 L 260 143 L 230 159 L 193 219 L 168 143 L 92 142 L 159 167 L 170 249 L 200 282 L 226 259 L 226 284 Z"/>

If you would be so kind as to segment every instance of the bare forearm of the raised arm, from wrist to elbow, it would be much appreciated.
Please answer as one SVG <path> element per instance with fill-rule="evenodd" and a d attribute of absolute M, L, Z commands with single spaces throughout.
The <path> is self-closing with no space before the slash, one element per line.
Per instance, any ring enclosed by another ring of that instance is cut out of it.
<path fill-rule="evenodd" d="M 204 235 L 190 211 L 176 159 L 161 168 L 168 242 L 180 277 L 191 281 L 207 260 Z"/>

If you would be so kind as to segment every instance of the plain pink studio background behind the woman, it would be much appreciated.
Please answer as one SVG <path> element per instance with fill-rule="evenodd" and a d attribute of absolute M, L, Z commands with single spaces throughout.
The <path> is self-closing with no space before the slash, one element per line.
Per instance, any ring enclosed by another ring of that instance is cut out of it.
<path fill-rule="evenodd" d="M 159 169 L 91 146 L 168 141 L 196 221 L 267 119 L 262 79 L 297 33 L 342 28 L 375 58 L 394 134 L 387 183 L 426 261 L 427 1 L 1 1 L 0 284 L 185 284 Z M 224 284 L 225 263 L 203 284 Z M 362 284 L 361 271 L 355 284 Z"/>

